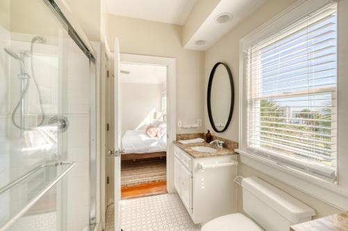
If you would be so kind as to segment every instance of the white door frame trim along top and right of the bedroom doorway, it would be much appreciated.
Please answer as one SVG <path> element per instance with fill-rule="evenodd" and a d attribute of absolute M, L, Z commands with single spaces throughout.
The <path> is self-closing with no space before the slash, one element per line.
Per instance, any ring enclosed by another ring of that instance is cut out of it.
<path fill-rule="evenodd" d="M 167 191 L 174 193 L 174 144 L 176 139 L 176 67 L 175 58 L 166 58 L 149 55 L 134 55 L 128 53 L 120 54 L 122 63 L 148 64 L 167 67 Z"/>

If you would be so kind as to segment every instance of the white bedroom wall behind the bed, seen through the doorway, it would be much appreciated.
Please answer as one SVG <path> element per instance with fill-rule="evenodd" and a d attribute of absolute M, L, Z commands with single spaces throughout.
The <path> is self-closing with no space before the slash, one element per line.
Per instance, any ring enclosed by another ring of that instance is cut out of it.
<path fill-rule="evenodd" d="M 143 130 L 151 122 L 151 112 L 161 111 L 161 84 L 121 83 L 121 128 Z"/>

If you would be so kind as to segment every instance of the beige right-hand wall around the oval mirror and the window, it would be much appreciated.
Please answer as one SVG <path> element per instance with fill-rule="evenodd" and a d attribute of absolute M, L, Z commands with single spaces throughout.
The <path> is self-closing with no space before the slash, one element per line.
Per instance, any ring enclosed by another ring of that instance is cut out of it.
<path fill-rule="evenodd" d="M 296 0 L 269 0 L 267 3 L 255 11 L 251 17 L 248 17 L 244 22 L 235 27 L 230 33 L 217 42 L 211 49 L 205 52 L 205 97 L 206 89 L 209 79 L 209 74 L 216 62 L 226 62 L 232 71 L 233 80 L 235 83 L 235 110 L 232 116 L 232 123 L 228 127 L 228 130 L 223 133 L 218 133 L 219 137 L 233 140 L 238 142 L 238 126 L 239 126 L 239 40 L 242 37 L 248 35 L 253 30 L 266 23 L 269 19 L 277 15 L 282 10 L 285 10 L 288 6 L 294 3 Z M 207 110 L 205 109 L 205 128 L 211 129 L 209 118 L 207 116 Z M 347 165 L 346 165 L 347 167 Z M 239 164 L 238 174 L 244 177 L 259 176 L 260 178 L 267 180 L 276 187 L 283 189 L 287 193 L 291 194 L 295 198 L 299 198 L 310 207 L 313 207 L 317 211 L 317 217 L 326 216 L 335 212 L 340 212 L 339 209 L 322 202 L 317 198 L 313 198 L 308 194 L 305 194 L 297 189 L 294 189 L 283 182 L 274 180 L 271 176 L 266 176 L 255 169 L 246 166 L 245 164 Z M 242 212 L 242 191 L 239 190 L 238 194 L 238 210 Z"/>

